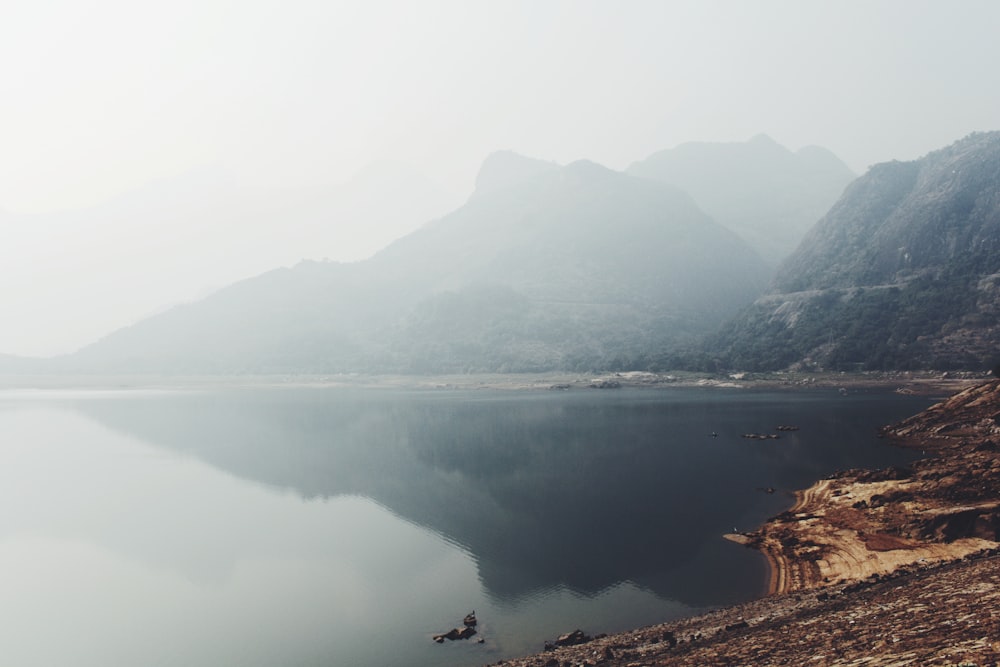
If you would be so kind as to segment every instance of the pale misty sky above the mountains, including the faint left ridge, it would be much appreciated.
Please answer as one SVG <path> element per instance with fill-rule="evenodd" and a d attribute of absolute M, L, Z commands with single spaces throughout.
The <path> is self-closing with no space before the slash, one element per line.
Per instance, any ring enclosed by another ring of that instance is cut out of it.
<path fill-rule="evenodd" d="M 362 259 L 460 204 L 496 150 L 624 169 L 766 133 L 858 173 L 914 159 L 1000 129 L 998 25 L 993 0 L 8 0 L 0 352 Z M 386 164 L 427 181 L 409 223 L 370 182 L 351 194 Z M 303 189 L 326 202 L 303 216 L 336 215 L 296 245 L 275 202 Z"/>

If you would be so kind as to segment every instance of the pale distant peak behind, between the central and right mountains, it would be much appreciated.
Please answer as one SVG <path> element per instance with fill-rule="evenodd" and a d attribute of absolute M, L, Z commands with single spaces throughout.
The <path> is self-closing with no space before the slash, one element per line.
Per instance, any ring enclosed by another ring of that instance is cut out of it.
<path fill-rule="evenodd" d="M 686 143 L 628 173 L 670 183 L 774 266 L 829 210 L 855 174 L 818 146 L 792 152 L 766 135 L 743 143 Z"/>

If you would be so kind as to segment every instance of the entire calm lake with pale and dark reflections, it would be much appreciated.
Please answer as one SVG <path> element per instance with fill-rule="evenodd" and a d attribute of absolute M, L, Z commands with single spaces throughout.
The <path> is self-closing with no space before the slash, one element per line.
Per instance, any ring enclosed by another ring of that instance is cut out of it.
<path fill-rule="evenodd" d="M 746 600 L 765 565 L 720 535 L 910 460 L 874 430 L 929 403 L 0 392 L 0 662 L 471 666 Z M 431 641 L 473 609 L 485 643 Z"/>

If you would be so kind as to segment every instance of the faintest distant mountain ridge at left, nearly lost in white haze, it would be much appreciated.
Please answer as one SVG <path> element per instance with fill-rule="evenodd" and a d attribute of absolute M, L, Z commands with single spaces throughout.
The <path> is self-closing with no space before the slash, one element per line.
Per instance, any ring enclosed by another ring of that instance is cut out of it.
<path fill-rule="evenodd" d="M 0 351 L 72 351 L 274 267 L 364 259 L 463 199 L 379 162 L 346 183 L 295 189 L 203 169 L 85 210 L 7 214 Z"/>

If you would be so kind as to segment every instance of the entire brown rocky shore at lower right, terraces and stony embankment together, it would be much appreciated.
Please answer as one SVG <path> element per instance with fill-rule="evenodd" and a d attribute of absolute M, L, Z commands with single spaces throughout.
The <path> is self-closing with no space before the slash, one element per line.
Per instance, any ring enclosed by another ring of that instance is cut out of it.
<path fill-rule="evenodd" d="M 1000 381 L 883 435 L 927 457 L 838 473 L 730 536 L 768 557 L 768 597 L 497 664 L 1000 664 Z"/>

